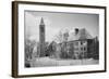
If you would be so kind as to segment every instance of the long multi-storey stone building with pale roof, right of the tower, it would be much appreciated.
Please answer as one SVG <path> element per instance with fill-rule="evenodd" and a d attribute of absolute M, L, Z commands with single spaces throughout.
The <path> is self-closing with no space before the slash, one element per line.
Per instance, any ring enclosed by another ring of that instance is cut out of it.
<path fill-rule="evenodd" d="M 75 31 L 68 36 L 65 41 L 60 43 L 55 42 L 57 43 L 56 53 L 53 54 L 55 57 L 75 60 L 90 57 L 98 58 L 98 40 L 93 38 L 85 28 L 75 28 Z"/>

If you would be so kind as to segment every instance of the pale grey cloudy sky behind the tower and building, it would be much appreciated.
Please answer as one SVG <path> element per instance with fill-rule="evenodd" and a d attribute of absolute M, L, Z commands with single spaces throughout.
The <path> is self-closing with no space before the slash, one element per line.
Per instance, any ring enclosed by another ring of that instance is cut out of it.
<path fill-rule="evenodd" d="M 59 13 L 25 11 L 25 36 L 39 41 L 39 24 L 45 23 L 46 41 L 52 41 L 59 31 L 74 28 L 85 28 L 93 37 L 99 36 L 99 15 L 83 13 Z"/>

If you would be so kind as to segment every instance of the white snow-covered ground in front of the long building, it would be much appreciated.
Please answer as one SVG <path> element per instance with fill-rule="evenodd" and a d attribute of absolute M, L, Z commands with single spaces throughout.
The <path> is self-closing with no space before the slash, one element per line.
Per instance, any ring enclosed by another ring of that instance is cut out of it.
<path fill-rule="evenodd" d="M 98 60 L 57 60 L 50 57 L 37 57 L 31 62 L 32 67 L 47 67 L 47 66 L 70 66 L 70 65 L 94 65 L 99 64 Z"/>

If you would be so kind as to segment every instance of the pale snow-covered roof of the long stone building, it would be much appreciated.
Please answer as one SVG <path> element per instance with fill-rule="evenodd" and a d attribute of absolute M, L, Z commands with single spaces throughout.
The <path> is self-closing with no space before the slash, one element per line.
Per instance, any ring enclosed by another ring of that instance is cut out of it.
<path fill-rule="evenodd" d="M 69 30 L 69 31 L 62 31 L 58 34 L 58 37 L 55 37 L 55 40 L 57 43 L 61 43 L 63 42 L 63 35 L 64 34 L 69 34 L 69 37 L 68 37 L 68 41 L 75 41 L 75 40 L 84 40 L 84 39 L 93 39 L 93 37 L 90 36 L 90 34 L 85 29 L 85 28 L 82 28 L 82 29 L 78 29 L 78 32 L 75 34 L 74 30 Z M 61 39 L 61 41 L 59 41 Z"/>

